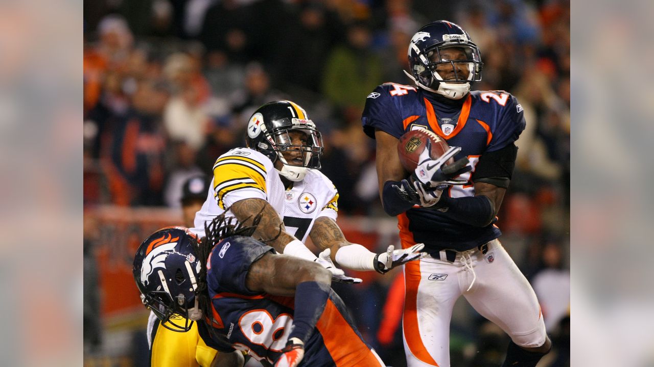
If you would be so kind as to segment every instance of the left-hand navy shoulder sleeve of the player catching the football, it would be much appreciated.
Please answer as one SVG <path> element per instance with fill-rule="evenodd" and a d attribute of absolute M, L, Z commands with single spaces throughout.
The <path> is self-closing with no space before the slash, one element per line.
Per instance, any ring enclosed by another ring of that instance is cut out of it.
<path fill-rule="evenodd" d="M 393 99 L 402 98 L 400 96 L 393 97 L 390 95 L 386 85 L 381 85 L 366 98 L 366 107 L 361 116 L 361 123 L 364 127 L 364 133 L 375 138 L 375 129 L 379 129 L 388 133 L 396 138 L 400 138 L 404 134 L 404 126 L 402 125 L 402 116 Z"/>

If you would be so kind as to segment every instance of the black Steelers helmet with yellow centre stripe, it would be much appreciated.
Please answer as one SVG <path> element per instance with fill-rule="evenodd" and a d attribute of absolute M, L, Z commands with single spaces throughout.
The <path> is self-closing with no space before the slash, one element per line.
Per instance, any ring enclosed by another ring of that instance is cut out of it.
<path fill-rule="evenodd" d="M 305 135 L 302 144 L 293 144 L 292 131 Z M 259 107 L 247 124 L 246 143 L 266 155 L 273 163 L 279 159 L 283 167 L 279 173 L 291 181 L 304 180 L 307 168 L 320 169 L 322 136 L 307 112 L 291 101 L 273 101 Z M 289 162 L 283 153 L 288 150 L 301 152 L 301 162 Z"/>

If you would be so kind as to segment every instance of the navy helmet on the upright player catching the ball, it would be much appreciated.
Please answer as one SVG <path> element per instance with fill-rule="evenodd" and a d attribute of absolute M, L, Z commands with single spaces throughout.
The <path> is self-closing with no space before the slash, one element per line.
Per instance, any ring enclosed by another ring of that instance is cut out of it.
<path fill-rule="evenodd" d="M 466 59 L 448 59 L 441 56 L 446 48 L 459 48 Z M 413 35 L 409 43 L 409 67 L 404 71 L 415 84 L 423 89 L 444 95 L 450 99 L 461 99 L 470 91 L 471 84 L 481 80 L 481 54 L 470 40 L 468 32 L 447 20 L 424 25 Z M 436 71 L 438 65 L 450 64 L 454 76 L 443 79 Z M 459 71 L 468 71 L 468 75 Z"/>

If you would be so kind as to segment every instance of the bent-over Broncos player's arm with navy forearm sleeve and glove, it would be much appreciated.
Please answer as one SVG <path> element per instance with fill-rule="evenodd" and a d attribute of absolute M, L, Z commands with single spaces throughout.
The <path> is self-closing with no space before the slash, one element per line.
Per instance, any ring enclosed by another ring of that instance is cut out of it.
<path fill-rule="evenodd" d="M 286 255 L 267 253 L 247 272 L 245 285 L 251 291 L 295 296 L 293 330 L 275 366 L 297 366 L 304 344 L 313 333 L 329 298 L 332 273 L 322 266 Z"/>

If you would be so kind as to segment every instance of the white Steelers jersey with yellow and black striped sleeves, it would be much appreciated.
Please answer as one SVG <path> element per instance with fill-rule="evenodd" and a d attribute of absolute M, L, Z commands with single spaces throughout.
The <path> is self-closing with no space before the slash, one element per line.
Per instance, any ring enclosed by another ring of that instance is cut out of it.
<path fill-rule="evenodd" d="M 305 242 L 317 217 L 336 220 L 338 191 L 319 170 L 309 169 L 301 182 L 284 189 L 272 161 L 256 150 L 235 148 L 224 153 L 213 165 L 213 180 L 202 208 L 196 213 L 192 232 L 205 236 L 205 223 L 243 199 L 263 199 L 283 220 L 286 231 Z M 231 211 L 228 216 L 233 216 Z"/>

